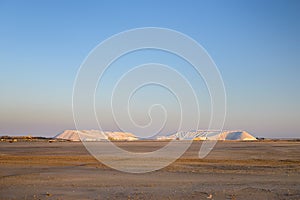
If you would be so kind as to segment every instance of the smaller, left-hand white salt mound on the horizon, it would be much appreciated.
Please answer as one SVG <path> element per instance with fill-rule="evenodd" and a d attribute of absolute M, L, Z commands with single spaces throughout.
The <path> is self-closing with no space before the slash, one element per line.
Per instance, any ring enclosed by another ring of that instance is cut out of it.
<path fill-rule="evenodd" d="M 134 141 L 138 139 L 132 133 L 99 130 L 65 130 L 55 138 L 70 141 Z"/>

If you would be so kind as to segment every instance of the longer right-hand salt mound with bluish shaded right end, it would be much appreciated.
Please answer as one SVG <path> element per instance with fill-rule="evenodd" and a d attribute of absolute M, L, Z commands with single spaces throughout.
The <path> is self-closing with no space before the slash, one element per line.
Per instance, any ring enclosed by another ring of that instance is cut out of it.
<path fill-rule="evenodd" d="M 169 136 L 160 136 L 158 140 L 257 140 L 254 136 L 246 131 L 181 131 Z"/>

